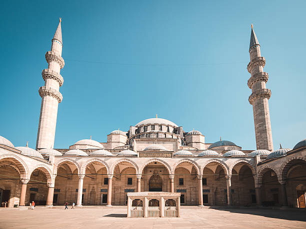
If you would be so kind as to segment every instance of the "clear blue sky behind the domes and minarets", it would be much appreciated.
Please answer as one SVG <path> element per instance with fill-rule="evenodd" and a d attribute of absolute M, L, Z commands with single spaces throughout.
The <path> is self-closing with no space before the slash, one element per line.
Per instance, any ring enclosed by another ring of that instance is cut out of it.
<path fill-rule="evenodd" d="M 58 18 L 65 66 L 55 148 L 155 117 L 255 149 L 250 24 L 266 59 L 274 149 L 306 138 L 306 1 L 3 1 L 0 135 L 35 148 Z M 105 64 L 109 62 L 116 64 Z"/>

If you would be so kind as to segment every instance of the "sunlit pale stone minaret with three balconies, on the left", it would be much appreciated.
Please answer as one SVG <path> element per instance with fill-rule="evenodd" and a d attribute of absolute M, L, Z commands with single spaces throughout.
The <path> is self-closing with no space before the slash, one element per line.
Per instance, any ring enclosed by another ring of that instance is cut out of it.
<path fill-rule="evenodd" d="M 59 72 L 65 64 L 61 57 L 62 40 L 60 22 L 61 18 L 59 18 L 59 23 L 52 39 L 51 51 L 45 53 L 48 68 L 43 69 L 41 72 L 44 86 L 38 90 L 41 96 L 41 108 L 36 149 L 53 148 L 54 146 L 57 106 L 62 100 L 59 87 L 63 83 L 63 78 Z"/>

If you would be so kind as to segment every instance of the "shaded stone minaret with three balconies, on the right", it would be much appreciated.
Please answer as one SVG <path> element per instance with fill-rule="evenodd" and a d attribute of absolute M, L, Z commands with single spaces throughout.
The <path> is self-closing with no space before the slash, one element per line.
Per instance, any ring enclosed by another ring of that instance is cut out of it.
<path fill-rule="evenodd" d="M 268 105 L 268 99 L 271 97 L 271 90 L 265 88 L 268 74 L 263 71 L 265 59 L 260 55 L 260 45 L 253 30 L 253 25 L 251 25 L 248 52 L 250 62 L 247 64 L 247 71 L 251 74 L 251 77 L 248 79 L 247 85 L 252 90 L 251 95 L 248 97 L 248 101 L 253 106 L 256 148 L 260 150 L 273 150 Z"/>

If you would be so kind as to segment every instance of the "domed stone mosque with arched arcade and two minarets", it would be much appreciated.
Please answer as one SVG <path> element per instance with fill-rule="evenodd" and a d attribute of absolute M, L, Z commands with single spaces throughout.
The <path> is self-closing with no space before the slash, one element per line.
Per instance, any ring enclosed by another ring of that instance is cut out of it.
<path fill-rule="evenodd" d="M 256 149 L 231 141 L 206 143 L 197 130 L 184 131 L 169 120 L 145 119 L 107 142 L 83 139 L 54 149 L 62 36 L 59 20 L 41 72 L 41 109 L 36 149 L 15 147 L 0 136 L 0 203 L 9 208 L 126 205 L 131 192 L 180 193 L 180 205 L 287 206 L 305 208 L 306 139 L 292 149 L 273 149 L 265 59 L 251 28 L 247 81 L 253 107 Z M 292 147 L 292 146 L 289 146 Z M 153 205 L 153 202 L 151 202 Z M 175 202 L 172 203 L 175 206 Z"/>

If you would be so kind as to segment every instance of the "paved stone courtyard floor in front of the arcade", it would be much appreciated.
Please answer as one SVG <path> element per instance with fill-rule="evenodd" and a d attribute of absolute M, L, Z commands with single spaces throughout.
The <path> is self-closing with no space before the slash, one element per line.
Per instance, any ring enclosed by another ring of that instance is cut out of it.
<path fill-rule="evenodd" d="M 0 208 L 0 228 L 306 228 L 306 211 L 290 209 L 182 207 L 180 218 L 126 218 L 125 207 L 115 208 Z"/>

